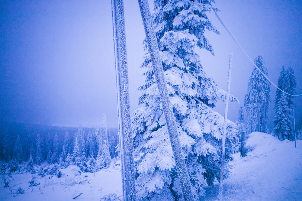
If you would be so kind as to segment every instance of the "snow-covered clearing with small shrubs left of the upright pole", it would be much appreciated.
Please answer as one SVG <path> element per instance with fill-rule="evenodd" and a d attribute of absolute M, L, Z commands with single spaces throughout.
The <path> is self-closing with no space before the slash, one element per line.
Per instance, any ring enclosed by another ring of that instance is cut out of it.
<path fill-rule="evenodd" d="M 12 194 L 8 188 L 0 188 L 0 200 L 10 201 L 59 201 L 73 200 L 72 198 L 83 193 L 76 200 L 97 200 L 108 194 L 122 195 L 120 169 L 100 170 L 96 173 L 82 173 L 79 168 L 69 166 L 62 170 L 65 176 L 57 178 L 46 175 L 38 177 L 39 186 L 28 187 L 32 175 L 30 173 L 14 174 L 11 178 L 10 188 L 17 189 L 21 186 L 25 189 L 24 194 Z M 68 176 L 67 176 L 68 175 Z M 86 177 L 87 176 L 87 177 Z M 74 185 L 74 183 L 76 183 Z M 13 190 L 14 192 L 14 190 Z"/>

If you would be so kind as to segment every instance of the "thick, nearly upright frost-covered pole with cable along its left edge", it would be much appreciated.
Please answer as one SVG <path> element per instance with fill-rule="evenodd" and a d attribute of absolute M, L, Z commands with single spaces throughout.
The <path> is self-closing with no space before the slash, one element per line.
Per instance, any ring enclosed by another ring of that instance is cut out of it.
<path fill-rule="evenodd" d="M 124 201 L 136 201 L 123 0 L 111 0 Z"/>

